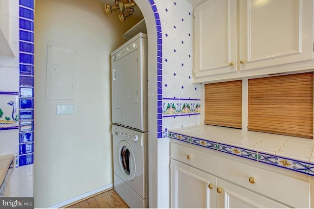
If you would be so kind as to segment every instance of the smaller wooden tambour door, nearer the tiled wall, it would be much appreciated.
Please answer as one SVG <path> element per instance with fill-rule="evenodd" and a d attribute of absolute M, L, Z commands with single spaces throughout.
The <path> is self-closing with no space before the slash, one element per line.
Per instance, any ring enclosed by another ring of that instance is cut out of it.
<path fill-rule="evenodd" d="M 242 80 L 205 84 L 207 125 L 241 128 Z"/>

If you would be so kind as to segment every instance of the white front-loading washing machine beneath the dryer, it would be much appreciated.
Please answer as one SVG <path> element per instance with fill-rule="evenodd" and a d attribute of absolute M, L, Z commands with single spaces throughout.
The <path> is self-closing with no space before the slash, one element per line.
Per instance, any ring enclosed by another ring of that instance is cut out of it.
<path fill-rule="evenodd" d="M 114 189 L 130 208 L 148 208 L 148 132 L 112 125 Z"/>

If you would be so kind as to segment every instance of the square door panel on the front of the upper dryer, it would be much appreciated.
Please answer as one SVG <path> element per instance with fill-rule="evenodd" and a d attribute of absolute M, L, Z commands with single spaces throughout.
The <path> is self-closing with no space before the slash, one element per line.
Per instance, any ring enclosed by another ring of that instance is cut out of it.
<path fill-rule="evenodd" d="M 112 63 L 114 104 L 138 103 L 137 50 Z"/>

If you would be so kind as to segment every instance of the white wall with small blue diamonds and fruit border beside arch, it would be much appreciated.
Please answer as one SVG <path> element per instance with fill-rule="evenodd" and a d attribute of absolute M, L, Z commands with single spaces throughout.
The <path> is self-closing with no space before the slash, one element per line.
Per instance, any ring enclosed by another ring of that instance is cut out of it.
<path fill-rule="evenodd" d="M 157 1 L 156 4 L 160 19 L 156 23 L 157 26 L 161 23 L 162 29 L 157 43 L 162 44 L 162 57 L 157 57 L 157 87 L 161 97 L 158 119 L 162 117 L 162 124 L 158 123 L 160 138 L 160 133 L 167 137 L 168 129 L 199 124 L 202 103 L 200 84 L 192 83 L 193 8 L 185 0 Z"/>

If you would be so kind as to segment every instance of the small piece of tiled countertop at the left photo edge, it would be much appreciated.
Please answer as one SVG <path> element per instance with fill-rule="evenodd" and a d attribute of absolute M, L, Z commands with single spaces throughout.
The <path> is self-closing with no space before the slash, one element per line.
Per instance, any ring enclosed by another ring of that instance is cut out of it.
<path fill-rule="evenodd" d="M 0 197 L 3 196 L 4 194 L 5 181 L 10 177 L 12 173 L 8 171 L 10 168 L 13 168 L 14 165 L 13 160 L 14 160 L 13 154 L 0 155 Z"/>

